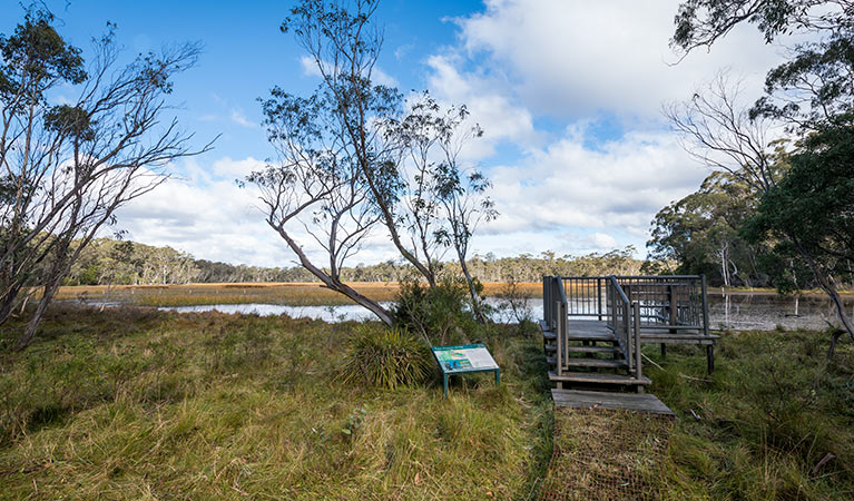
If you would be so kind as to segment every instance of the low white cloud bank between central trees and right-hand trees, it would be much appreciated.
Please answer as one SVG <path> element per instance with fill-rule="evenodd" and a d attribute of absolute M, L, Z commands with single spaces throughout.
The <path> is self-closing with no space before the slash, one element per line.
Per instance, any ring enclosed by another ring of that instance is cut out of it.
<path fill-rule="evenodd" d="M 590 252 L 642 248 L 654 215 L 708 174 L 667 132 L 629 132 L 596 149 L 587 139 L 583 129 L 569 127 L 563 138 L 519 164 L 493 167 L 501 217 L 483 232 L 504 237 L 581 232 L 591 236 L 579 248 Z M 615 232 L 625 236 L 618 240 Z"/>

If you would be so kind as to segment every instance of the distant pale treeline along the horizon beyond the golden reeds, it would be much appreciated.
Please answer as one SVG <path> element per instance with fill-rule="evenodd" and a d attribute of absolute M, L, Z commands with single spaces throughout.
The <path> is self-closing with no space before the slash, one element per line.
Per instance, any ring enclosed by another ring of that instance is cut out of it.
<path fill-rule="evenodd" d="M 634 257 L 631 246 L 603 254 L 559 256 L 543 252 L 539 256 L 516 257 L 475 255 L 468 265 L 481 282 L 539 282 L 542 275 L 590 276 L 631 275 L 639 273 L 644 262 Z M 457 262 L 440 263 L 440 275 L 459 276 Z M 345 267 L 341 276 L 347 282 L 395 282 L 412 269 L 393 261 L 374 265 Z M 155 247 L 130 240 L 98 238 L 82 252 L 71 268 L 66 285 L 169 285 L 188 283 L 242 282 L 317 282 L 301 266 L 261 267 L 233 265 L 193 255 L 171 247 Z"/>

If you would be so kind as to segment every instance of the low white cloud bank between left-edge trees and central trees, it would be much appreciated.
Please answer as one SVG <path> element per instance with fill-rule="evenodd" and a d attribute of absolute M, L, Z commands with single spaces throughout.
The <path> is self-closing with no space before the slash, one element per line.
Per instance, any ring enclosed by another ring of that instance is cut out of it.
<path fill-rule="evenodd" d="M 118 226 L 128 238 L 148 245 L 168 245 L 196 258 L 258 266 L 294 266 L 296 256 L 264 219 L 258 193 L 241 188 L 235 179 L 264 167 L 254 158 L 189 160 L 184 177 L 171 178 L 117 212 Z M 289 228 L 310 257 L 321 266 L 327 257 L 300 225 Z M 106 234 L 106 233 L 105 233 Z M 351 262 L 376 263 L 396 257 L 382 228 L 369 235 Z"/>

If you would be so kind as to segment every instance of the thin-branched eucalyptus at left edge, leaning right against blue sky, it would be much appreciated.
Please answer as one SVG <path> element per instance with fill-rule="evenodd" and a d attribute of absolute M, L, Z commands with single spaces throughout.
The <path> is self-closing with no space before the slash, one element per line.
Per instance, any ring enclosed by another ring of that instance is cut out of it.
<path fill-rule="evenodd" d="M 22 292 L 41 287 L 19 348 L 80 253 L 116 223 L 116 209 L 160 185 L 169 161 L 210 146 L 190 149 L 192 135 L 164 121 L 171 79 L 196 62 L 199 47 L 121 66 L 114 28 L 94 40 L 88 65 L 45 10 L 30 8 L 0 38 L 0 322 Z M 70 102 L 51 101 L 60 86 L 73 92 Z"/>

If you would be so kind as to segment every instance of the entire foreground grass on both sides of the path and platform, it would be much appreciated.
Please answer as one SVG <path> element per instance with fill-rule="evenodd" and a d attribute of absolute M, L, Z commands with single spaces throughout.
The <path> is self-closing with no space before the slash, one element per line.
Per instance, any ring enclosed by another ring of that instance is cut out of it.
<path fill-rule="evenodd" d="M 646 346 L 677 414 L 661 446 L 634 414 L 556 416 L 541 342 L 509 333 L 482 340 L 498 387 L 343 384 L 357 326 L 58 305 L 14 353 L 7 325 L 0 499 L 529 499 L 553 428 L 559 449 L 612 452 L 664 499 L 854 495 L 854 348 L 827 364 L 823 333 L 723 333 L 711 376 L 700 348 Z M 611 464 L 569 458 L 550 479 Z"/>

